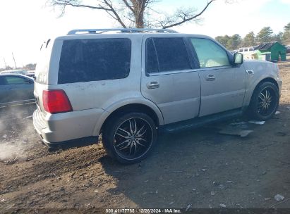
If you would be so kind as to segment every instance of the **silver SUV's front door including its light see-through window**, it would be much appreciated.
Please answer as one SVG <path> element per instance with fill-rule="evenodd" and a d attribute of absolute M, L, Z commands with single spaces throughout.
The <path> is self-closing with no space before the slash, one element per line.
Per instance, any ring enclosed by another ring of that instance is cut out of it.
<path fill-rule="evenodd" d="M 229 53 L 212 39 L 190 38 L 200 68 L 200 116 L 241 108 L 246 89 L 243 65 L 231 65 Z"/>

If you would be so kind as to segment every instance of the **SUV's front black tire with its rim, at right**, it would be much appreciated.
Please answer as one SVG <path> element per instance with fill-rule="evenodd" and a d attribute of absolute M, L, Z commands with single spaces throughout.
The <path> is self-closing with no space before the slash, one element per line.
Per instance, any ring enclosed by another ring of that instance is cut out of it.
<path fill-rule="evenodd" d="M 279 106 L 279 89 L 272 82 L 262 82 L 253 92 L 248 111 L 256 120 L 272 118 Z"/>

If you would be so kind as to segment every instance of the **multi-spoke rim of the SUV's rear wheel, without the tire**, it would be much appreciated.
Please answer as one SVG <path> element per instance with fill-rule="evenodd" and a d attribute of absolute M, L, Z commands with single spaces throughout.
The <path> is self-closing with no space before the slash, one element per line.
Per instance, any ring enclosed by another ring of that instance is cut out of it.
<path fill-rule="evenodd" d="M 114 149 L 126 160 L 142 157 L 152 146 L 153 130 L 143 118 L 130 118 L 114 134 Z"/>

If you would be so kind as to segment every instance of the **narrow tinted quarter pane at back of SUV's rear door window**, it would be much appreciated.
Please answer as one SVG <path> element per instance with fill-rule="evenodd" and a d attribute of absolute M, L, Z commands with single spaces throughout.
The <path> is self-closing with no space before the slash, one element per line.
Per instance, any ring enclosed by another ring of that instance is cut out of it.
<path fill-rule="evenodd" d="M 155 45 L 152 39 L 147 39 L 146 41 L 146 71 L 147 73 L 158 72 L 158 61 L 157 54 L 155 50 Z"/>

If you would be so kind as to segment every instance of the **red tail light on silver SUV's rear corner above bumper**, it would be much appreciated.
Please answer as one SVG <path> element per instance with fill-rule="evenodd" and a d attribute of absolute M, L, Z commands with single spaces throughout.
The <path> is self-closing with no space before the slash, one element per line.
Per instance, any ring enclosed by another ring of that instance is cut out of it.
<path fill-rule="evenodd" d="M 44 110 L 49 113 L 64 113 L 73 111 L 66 92 L 61 89 L 44 90 L 42 92 Z"/>

